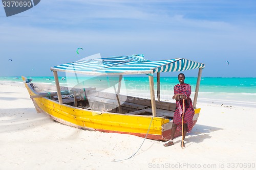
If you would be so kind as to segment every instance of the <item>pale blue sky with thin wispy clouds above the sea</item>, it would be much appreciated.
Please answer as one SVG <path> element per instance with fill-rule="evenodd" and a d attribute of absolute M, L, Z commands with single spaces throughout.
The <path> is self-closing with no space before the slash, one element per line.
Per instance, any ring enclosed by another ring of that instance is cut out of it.
<path fill-rule="evenodd" d="M 205 64 L 203 77 L 256 77 L 256 1 L 42 0 L 10 17 L 0 6 L 0 77 L 52 76 L 51 66 L 97 53 L 186 58 Z"/>

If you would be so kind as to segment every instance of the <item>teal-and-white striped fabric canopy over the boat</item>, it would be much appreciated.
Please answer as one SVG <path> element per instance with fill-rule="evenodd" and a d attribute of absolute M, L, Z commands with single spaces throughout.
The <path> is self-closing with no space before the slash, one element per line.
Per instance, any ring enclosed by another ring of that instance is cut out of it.
<path fill-rule="evenodd" d="M 51 67 L 51 70 L 85 75 L 152 75 L 155 72 L 204 68 L 204 64 L 184 58 L 150 61 L 143 57 L 143 55 L 131 55 L 79 60 Z"/>

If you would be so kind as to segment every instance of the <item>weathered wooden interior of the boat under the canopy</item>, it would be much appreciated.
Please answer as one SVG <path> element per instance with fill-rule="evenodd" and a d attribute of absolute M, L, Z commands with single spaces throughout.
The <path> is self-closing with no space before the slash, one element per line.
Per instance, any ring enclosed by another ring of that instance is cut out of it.
<path fill-rule="evenodd" d="M 42 92 L 41 85 L 36 85 L 36 91 L 40 91 L 40 94 L 46 94 Z M 54 91 L 53 86 L 48 86 L 49 91 Z M 61 87 L 61 90 L 67 90 L 67 87 Z M 74 90 L 74 89 L 73 89 Z M 76 89 L 79 91 L 79 89 Z M 81 89 L 80 89 L 81 90 Z M 95 88 L 88 88 L 87 90 L 82 90 L 84 93 L 81 96 L 75 96 L 74 94 L 62 95 L 63 104 L 70 106 L 79 107 L 87 110 L 104 111 L 111 113 L 120 114 L 133 114 L 133 115 L 152 115 L 151 100 L 135 98 L 133 96 L 124 96 L 119 94 L 107 93 L 102 91 L 97 91 Z M 54 93 L 53 93 L 54 94 Z M 40 96 L 40 95 L 39 95 Z M 58 97 L 48 96 L 51 100 L 58 102 Z M 156 102 L 156 116 L 173 118 L 174 111 L 176 109 L 175 103 L 160 101 Z"/>

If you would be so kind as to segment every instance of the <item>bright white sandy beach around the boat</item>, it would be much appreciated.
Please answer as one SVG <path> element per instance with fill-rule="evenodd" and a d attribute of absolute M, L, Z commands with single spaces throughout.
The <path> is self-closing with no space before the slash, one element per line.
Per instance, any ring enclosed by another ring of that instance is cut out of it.
<path fill-rule="evenodd" d="M 36 113 L 23 83 L 0 83 L 0 169 L 255 169 L 255 107 L 197 107 L 200 117 L 186 147 L 181 137 L 163 147 L 162 141 L 142 144 L 144 138 L 133 135 L 56 123 Z"/>

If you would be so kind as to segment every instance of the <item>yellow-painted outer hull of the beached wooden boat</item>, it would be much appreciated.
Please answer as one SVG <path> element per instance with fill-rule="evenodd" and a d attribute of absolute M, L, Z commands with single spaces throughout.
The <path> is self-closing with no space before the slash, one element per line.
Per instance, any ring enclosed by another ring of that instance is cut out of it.
<path fill-rule="evenodd" d="M 37 92 L 25 83 L 30 96 Z M 163 117 L 146 115 L 131 115 L 108 113 L 81 109 L 62 104 L 48 98 L 32 99 L 38 113 L 47 113 L 61 124 L 79 129 L 96 130 L 101 132 L 115 132 L 132 134 L 154 140 L 169 140 L 173 122 Z M 200 108 L 195 109 L 195 116 L 199 116 Z M 197 118 L 194 120 L 196 124 Z M 178 131 L 175 136 L 181 134 Z"/>

